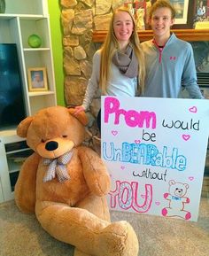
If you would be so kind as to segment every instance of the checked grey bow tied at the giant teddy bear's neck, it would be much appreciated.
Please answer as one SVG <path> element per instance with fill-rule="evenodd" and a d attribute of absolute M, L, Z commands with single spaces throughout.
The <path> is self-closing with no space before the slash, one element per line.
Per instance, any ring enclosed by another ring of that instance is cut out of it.
<path fill-rule="evenodd" d="M 57 175 L 58 182 L 65 182 L 70 179 L 67 174 L 66 164 L 72 159 L 73 152 L 68 151 L 57 159 L 43 159 L 43 165 L 49 166 L 43 177 L 43 182 L 50 182 Z"/>

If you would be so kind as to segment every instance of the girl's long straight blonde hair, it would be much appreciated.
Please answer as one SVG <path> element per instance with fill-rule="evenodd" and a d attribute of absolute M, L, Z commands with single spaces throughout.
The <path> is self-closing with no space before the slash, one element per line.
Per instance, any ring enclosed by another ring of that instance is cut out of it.
<path fill-rule="evenodd" d="M 132 13 L 128 10 L 128 8 L 120 7 L 115 10 L 112 14 L 112 19 L 110 21 L 110 27 L 108 30 L 108 33 L 106 35 L 106 38 L 104 40 L 104 44 L 101 48 L 101 63 L 100 63 L 100 79 L 99 79 L 99 86 L 102 89 L 102 91 L 106 91 L 107 81 L 111 77 L 111 64 L 112 64 L 112 57 L 116 50 L 119 50 L 119 43 L 114 35 L 113 30 L 113 21 L 115 14 L 118 12 L 128 12 L 130 15 L 132 21 L 133 21 L 133 33 L 130 37 L 130 44 L 133 47 L 133 50 L 135 51 L 135 56 L 138 59 L 139 63 L 139 73 L 138 73 L 138 94 L 143 93 L 144 89 L 144 77 L 145 77 L 145 65 L 144 65 L 144 57 L 143 57 L 143 50 L 140 45 L 140 41 L 138 38 L 136 25 L 135 25 L 135 19 L 132 15 Z"/>

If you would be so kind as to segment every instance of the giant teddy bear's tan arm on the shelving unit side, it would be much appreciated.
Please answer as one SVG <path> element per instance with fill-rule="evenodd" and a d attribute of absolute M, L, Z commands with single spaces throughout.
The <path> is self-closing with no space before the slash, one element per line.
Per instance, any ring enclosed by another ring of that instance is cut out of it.
<path fill-rule="evenodd" d="M 28 157 L 19 171 L 18 181 L 14 188 L 14 198 L 19 210 L 24 213 L 35 213 L 36 170 L 40 156 L 33 153 Z"/>

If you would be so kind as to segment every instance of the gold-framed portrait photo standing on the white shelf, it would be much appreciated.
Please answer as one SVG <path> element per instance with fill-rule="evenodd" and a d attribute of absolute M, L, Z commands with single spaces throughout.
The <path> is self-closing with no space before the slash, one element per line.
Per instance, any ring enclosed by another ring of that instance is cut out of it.
<path fill-rule="evenodd" d="M 48 90 L 47 75 L 45 67 L 32 67 L 27 69 L 28 90 Z"/>

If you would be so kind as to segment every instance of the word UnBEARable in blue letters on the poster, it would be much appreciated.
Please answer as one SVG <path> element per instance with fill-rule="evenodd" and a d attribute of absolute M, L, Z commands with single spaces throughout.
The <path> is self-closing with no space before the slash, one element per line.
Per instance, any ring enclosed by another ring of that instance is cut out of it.
<path fill-rule="evenodd" d="M 129 162 L 153 167 L 166 167 L 184 171 L 187 159 L 179 155 L 178 149 L 173 148 L 172 153 L 167 152 L 167 147 L 159 151 L 154 144 L 128 144 L 122 143 L 121 148 L 115 148 L 113 143 L 102 145 L 103 157 L 107 161 Z"/>

